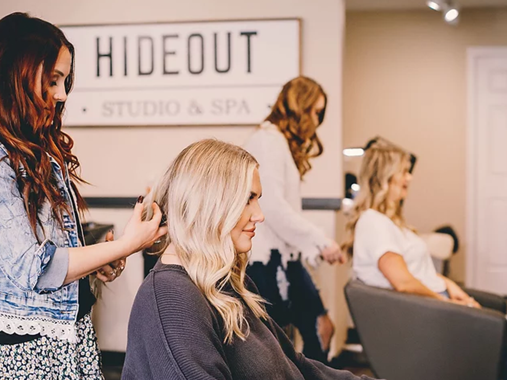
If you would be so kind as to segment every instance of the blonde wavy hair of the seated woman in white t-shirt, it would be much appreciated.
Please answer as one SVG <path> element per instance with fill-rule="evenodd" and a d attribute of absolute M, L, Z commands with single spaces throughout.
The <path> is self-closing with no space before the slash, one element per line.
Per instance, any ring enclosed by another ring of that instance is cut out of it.
<path fill-rule="evenodd" d="M 389 202 L 387 199 L 391 178 L 408 170 L 410 164 L 409 153 L 381 138 L 365 150 L 359 171 L 359 194 L 345 225 L 345 239 L 341 244 L 343 252 L 352 255 L 356 223 L 368 208 L 382 212 L 400 228 L 412 229 L 403 218 L 403 202 Z"/>

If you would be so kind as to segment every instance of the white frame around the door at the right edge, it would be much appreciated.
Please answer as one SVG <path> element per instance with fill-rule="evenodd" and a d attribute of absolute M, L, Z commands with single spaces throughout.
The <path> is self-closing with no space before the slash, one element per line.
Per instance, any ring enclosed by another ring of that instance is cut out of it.
<path fill-rule="evenodd" d="M 467 48 L 467 134 L 466 134 L 466 250 L 465 284 L 477 286 L 477 70 L 481 58 L 507 57 L 507 46 Z"/>

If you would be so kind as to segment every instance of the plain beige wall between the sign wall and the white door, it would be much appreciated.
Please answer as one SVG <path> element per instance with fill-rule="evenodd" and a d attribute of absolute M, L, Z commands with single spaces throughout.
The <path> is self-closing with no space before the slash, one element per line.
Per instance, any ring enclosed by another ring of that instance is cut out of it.
<path fill-rule="evenodd" d="M 455 227 L 451 277 L 465 277 L 468 46 L 507 45 L 507 8 L 465 9 L 456 27 L 431 10 L 347 12 L 343 146 L 380 134 L 418 156 L 406 202 L 420 231 Z M 343 169 L 357 169 L 346 160 Z"/>

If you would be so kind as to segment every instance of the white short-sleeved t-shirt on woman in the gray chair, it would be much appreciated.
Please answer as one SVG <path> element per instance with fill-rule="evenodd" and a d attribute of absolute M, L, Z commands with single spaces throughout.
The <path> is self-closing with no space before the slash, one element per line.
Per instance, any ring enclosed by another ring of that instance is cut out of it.
<path fill-rule="evenodd" d="M 380 257 L 387 252 L 401 255 L 408 271 L 428 289 L 436 293 L 446 290 L 426 243 L 416 233 L 401 229 L 389 217 L 370 208 L 359 217 L 354 232 L 352 267 L 357 278 L 370 286 L 393 289 L 378 267 Z"/>

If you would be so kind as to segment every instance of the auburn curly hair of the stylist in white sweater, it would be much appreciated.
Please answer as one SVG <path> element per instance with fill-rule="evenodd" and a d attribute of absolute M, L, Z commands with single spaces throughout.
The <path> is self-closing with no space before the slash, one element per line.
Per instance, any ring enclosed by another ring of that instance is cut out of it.
<path fill-rule="evenodd" d="M 319 123 L 315 125 L 310 112 L 321 96 L 325 105 L 319 114 Z M 266 121 L 278 126 L 287 138 L 301 178 L 312 168 L 309 159 L 321 155 L 324 150 L 316 129 L 324 120 L 326 105 L 327 95 L 322 87 L 313 79 L 301 76 L 284 85 L 266 117 Z"/>

